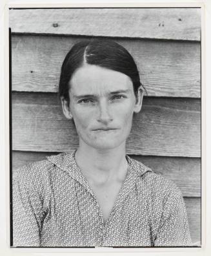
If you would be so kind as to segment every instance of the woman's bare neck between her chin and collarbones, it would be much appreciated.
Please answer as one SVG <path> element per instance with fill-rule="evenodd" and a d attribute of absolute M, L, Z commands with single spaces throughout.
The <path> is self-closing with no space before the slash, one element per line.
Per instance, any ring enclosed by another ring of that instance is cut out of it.
<path fill-rule="evenodd" d="M 98 184 L 112 180 L 125 180 L 128 163 L 125 157 L 125 142 L 114 149 L 94 149 L 79 144 L 75 160 L 83 175 Z"/>

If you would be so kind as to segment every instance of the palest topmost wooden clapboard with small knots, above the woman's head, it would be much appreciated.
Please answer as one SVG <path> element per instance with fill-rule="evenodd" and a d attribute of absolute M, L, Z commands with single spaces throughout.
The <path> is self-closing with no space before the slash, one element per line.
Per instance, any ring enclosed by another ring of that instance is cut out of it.
<path fill-rule="evenodd" d="M 200 8 L 10 10 L 15 33 L 200 40 Z"/>

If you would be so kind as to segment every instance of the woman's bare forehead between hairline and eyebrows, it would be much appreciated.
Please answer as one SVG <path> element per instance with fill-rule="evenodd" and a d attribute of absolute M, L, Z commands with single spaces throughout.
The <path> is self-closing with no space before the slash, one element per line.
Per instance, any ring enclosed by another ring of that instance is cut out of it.
<path fill-rule="evenodd" d="M 121 72 L 86 64 L 70 80 L 73 94 L 107 94 L 119 90 L 133 91 L 131 79 Z"/>

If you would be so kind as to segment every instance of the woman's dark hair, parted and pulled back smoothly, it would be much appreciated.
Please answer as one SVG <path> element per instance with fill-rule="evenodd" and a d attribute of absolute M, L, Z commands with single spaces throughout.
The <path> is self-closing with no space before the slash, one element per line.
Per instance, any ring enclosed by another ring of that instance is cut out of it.
<path fill-rule="evenodd" d="M 59 97 L 63 96 L 69 102 L 69 81 L 75 70 L 84 63 L 97 65 L 106 69 L 119 71 L 129 76 L 134 86 L 134 93 L 140 87 L 139 72 L 130 53 L 121 45 L 108 39 L 91 39 L 80 41 L 66 54 L 61 67 L 59 81 Z"/>

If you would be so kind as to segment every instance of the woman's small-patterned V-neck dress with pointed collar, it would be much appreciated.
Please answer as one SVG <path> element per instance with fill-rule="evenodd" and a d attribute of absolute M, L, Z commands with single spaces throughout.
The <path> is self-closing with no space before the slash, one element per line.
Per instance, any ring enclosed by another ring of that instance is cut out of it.
<path fill-rule="evenodd" d="M 106 222 L 75 151 L 15 172 L 13 246 L 192 246 L 181 191 L 126 158 L 128 173 Z"/>

